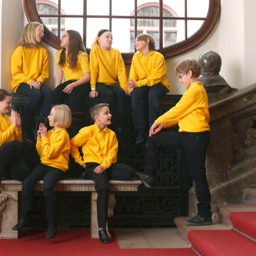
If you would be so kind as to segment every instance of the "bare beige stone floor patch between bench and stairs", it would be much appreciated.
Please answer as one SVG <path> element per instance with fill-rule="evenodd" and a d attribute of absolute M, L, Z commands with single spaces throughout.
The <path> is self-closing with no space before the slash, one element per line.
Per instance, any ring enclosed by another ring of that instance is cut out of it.
<path fill-rule="evenodd" d="M 114 229 L 120 248 L 187 248 L 177 227 Z"/>

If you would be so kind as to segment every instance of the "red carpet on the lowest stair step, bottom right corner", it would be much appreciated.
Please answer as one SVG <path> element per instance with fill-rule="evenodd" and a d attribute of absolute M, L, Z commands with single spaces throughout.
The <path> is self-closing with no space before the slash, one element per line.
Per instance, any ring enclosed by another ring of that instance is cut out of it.
<path fill-rule="evenodd" d="M 256 256 L 256 243 L 233 230 L 190 230 L 187 237 L 203 256 Z"/>

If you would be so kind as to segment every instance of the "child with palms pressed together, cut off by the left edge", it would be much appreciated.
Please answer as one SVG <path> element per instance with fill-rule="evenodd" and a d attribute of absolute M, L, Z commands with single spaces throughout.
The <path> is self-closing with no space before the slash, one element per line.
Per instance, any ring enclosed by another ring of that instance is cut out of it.
<path fill-rule="evenodd" d="M 0 89 L 0 179 L 24 180 L 29 167 L 21 157 L 21 121 L 20 114 L 11 111 L 12 94 Z"/>

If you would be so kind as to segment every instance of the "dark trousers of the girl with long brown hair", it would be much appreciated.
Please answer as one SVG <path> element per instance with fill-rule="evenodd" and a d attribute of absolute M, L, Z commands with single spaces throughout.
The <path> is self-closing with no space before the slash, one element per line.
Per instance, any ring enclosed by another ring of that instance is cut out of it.
<path fill-rule="evenodd" d="M 89 93 L 91 91 L 91 85 L 89 82 L 76 86 L 70 94 L 62 91 L 67 85 L 75 81 L 76 80 L 69 80 L 64 82 L 53 90 L 52 105 L 66 104 L 70 106 L 72 113 L 84 111 L 84 103 L 85 101 L 88 101 Z"/>

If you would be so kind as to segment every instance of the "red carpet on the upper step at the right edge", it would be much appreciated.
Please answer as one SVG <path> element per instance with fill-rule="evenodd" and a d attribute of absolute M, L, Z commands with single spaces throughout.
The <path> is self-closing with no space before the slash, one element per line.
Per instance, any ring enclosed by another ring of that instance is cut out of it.
<path fill-rule="evenodd" d="M 235 229 L 256 239 L 256 212 L 232 212 L 229 218 Z"/>

